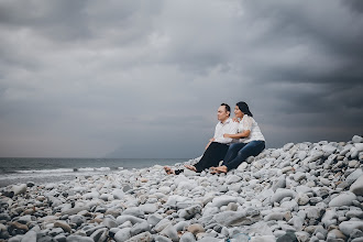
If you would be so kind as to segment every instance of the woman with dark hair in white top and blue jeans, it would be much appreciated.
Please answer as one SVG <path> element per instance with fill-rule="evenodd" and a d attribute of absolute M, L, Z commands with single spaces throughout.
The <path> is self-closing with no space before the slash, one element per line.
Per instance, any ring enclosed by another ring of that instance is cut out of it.
<path fill-rule="evenodd" d="M 265 148 L 263 136 L 257 122 L 253 119 L 248 103 L 240 101 L 234 108 L 235 120 L 240 122 L 237 134 L 224 134 L 224 138 L 239 139 L 231 144 L 221 166 L 211 167 L 212 173 L 227 173 L 237 168 L 250 156 L 258 155 Z"/>

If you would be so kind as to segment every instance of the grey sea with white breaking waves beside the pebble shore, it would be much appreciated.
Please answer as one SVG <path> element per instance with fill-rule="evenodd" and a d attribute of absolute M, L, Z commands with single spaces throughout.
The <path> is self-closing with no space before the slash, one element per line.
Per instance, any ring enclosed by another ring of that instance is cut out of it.
<path fill-rule="evenodd" d="M 175 165 L 188 158 L 6 158 L 0 157 L 0 187 L 33 182 L 56 183 L 77 176 L 107 175 L 122 169 Z"/>

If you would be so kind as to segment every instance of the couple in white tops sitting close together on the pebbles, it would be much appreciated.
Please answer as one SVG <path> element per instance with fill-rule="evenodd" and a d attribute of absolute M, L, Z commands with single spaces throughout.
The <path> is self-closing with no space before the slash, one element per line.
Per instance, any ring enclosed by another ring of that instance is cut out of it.
<path fill-rule="evenodd" d="M 265 148 L 263 136 L 249 106 L 241 101 L 234 107 L 235 118 L 230 118 L 231 108 L 222 103 L 218 108 L 219 122 L 216 125 L 215 136 L 210 139 L 206 151 L 196 165 L 185 165 L 186 168 L 200 173 L 210 168 L 212 174 L 227 173 L 237 168 L 249 156 L 256 156 Z M 222 161 L 222 164 L 220 162 Z M 167 174 L 183 173 L 184 169 L 164 167 Z"/>

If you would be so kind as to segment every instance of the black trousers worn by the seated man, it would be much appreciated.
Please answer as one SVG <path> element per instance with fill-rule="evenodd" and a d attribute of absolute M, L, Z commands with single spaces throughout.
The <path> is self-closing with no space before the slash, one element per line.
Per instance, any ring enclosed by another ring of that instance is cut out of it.
<path fill-rule="evenodd" d="M 200 161 L 195 165 L 197 173 L 201 173 L 204 169 L 212 166 L 218 166 L 219 162 L 223 160 L 227 151 L 227 144 L 212 142 L 206 150 Z"/>

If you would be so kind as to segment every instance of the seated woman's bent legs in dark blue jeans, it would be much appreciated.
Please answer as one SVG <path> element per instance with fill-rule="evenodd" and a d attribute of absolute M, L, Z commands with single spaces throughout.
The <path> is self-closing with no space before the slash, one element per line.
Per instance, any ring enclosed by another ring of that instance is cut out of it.
<path fill-rule="evenodd" d="M 248 157 L 258 155 L 264 148 L 265 148 L 264 141 L 251 141 L 239 151 L 235 158 L 233 158 L 229 163 L 223 162 L 222 165 L 227 166 L 228 170 L 234 169 Z"/>

